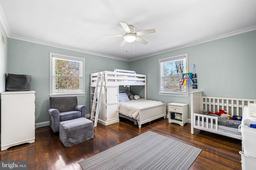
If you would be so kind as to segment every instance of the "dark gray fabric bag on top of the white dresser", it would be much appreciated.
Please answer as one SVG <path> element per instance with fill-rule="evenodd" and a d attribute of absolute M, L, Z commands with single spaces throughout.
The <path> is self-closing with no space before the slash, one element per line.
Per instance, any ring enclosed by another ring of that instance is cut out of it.
<path fill-rule="evenodd" d="M 26 91 L 31 88 L 31 76 L 8 74 L 6 79 L 6 91 Z"/>

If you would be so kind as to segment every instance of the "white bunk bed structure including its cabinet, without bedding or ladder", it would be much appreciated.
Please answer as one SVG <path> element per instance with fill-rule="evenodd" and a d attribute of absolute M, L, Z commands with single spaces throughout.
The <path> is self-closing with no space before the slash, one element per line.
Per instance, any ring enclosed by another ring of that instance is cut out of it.
<path fill-rule="evenodd" d="M 148 123 L 155 119 L 166 116 L 166 104 L 158 103 L 153 106 L 145 106 L 143 108 L 138 108 L 138 117 L 134 119 L 133 117 L 128 117 L 124 113 L 119 114 L 118 95 L 119 86 L 126 86 L 130 90 L 130 86 L 144 86 L 144 99 L 147 98 L 146 94 L 146 75 L 136 74 L 134 71 L 130 70 L 114 70 L 114 71 L 102 71 L 100 75 L 104 75 L 104 81 L 102 83 L 102 97 L 99 101 L 99 115 L 98 122 L 103 125 L 109 125 L 112 123 L 119 122 L 119 116 L 130 119 L 134 121 L 134 124 L 141 128 L 141 125 Z M 94 87 L 96 86 L 98 72 L 90 74 L 90 87 L 91 87 L 91 101 L 94 97 Z M 138 100 L 141 101 L 141 100 Z M 92 104 L 91 104 L 92 106 Z"/>

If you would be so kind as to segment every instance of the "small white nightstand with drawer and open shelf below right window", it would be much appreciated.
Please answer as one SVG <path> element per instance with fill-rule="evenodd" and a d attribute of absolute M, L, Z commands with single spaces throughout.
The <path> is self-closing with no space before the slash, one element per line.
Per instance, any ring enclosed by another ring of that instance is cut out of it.
<path fill-rule="evenodd" d="M 169 123 L 177 123 L 183 126 L 188 122 L 188 104 L 169 103 L 168 104 Z"/>

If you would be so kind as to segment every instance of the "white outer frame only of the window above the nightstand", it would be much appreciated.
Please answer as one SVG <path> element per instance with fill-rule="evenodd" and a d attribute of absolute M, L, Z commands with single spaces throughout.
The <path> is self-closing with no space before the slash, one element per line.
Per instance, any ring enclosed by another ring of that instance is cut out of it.
<path fill-rule="evenodd" d="M 172 62 L 177 59 L 186 59 L 186 69 L 188 69 L 188 53 L 182 54 L 182 55 L 176 55 L 164 59 L 159 59 L 158 60 L 158 72 L 159 72 L 159 89 L 158 89 L 158 94 L 159 95 L 164 95 L 164 96 L 181 96 L 181 97 L 188 97 L 188 86 L 186 86 L 186 92 L 161 92 L 161 70 L 160 70 L 160 64 L 162 62 Z"/>

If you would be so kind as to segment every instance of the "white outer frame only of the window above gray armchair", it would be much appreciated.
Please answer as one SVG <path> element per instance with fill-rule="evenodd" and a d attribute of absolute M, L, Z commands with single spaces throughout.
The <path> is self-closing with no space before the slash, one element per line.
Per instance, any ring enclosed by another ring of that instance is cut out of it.
<path fill-rule="evenodd" d="M 53 57 L 60 59 L 68 59 L 73 61 L 82 62 L 82 92 L 54 92 L 53 82 L 55 81 L 55 70 L 53 70 Z M 75 95 L 75 96 L 85 96 L 85 59 L 80 57 L 74 57 L 69 55 L 62 55 L 57 53 L 49 53 L 49 61 L 50 61 L 50 95 L 49 96 L 59 96 L 59 95 Z"/>

